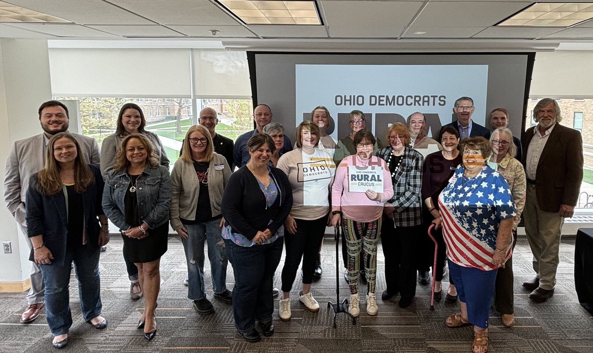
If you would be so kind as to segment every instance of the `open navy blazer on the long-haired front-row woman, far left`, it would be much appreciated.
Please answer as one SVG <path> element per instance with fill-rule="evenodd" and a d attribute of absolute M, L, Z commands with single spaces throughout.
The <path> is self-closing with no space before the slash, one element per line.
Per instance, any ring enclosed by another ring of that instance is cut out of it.
<path fill-rule="evenodd" d="M 103 176 L 96 165 L 88 165 L 95 177 L 95 183 L 82 193 L 84 224 L 87 232 L 87 246 L 98 248 L 101 224 L 97 218 L 103 213 Z M 63 266 L 66 260 L 66 240 L 68 239 L 68 216 L 66 200 L 62 191 L 56 195 L 43 195 L 37 190 L 38 173 L 31 175 L 27 190 L 27 236 L 43 235 L 43 244 L 52 252 L 52 264 Z M 33 249 L 29 260 L 34 261 Z"/>

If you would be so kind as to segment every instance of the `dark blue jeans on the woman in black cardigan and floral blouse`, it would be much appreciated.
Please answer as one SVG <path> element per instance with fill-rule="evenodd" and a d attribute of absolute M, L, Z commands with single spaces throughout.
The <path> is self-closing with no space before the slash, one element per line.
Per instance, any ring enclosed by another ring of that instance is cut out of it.
<path fill-rule="evenodd" d="M 235 275 L 235 287 L 232 290 L 235 328 L 247 332 L 255 327 L 256 320 L 260 323 L 272 320 L 272 282 L 282 257 L 284 238 L 250 247 L 239 246 L 228 239 L 224 241 Z"/>

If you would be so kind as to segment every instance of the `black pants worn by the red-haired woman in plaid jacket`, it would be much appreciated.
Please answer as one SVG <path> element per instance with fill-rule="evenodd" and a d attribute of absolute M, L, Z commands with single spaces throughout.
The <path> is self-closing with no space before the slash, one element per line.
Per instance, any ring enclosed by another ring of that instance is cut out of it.
<path fill-rule="evenodd" d="M 422 226 L 395 227 L 393 220 L 383 216 L 381 244 L 385 256 L 385 283 L 389 293 L 402 299 L 416 295 L 417 235 Z"/>

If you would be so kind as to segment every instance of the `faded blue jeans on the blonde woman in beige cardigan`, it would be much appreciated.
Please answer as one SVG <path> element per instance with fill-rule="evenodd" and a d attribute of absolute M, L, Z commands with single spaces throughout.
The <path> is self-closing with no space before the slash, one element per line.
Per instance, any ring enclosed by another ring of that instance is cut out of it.
<path fill-rule="evenodd" d="M 220 219 L 196 224 L 183 224 L 187 229 L 187 239 L 181 238 L 187 260 L 188 291 L 191 300 L 206 297 L 204 285 L 204 240 L 208 243 L 208 259 L 212 274 L 214 293 L 227 290 L 227 254 L 221 235 Z"/>

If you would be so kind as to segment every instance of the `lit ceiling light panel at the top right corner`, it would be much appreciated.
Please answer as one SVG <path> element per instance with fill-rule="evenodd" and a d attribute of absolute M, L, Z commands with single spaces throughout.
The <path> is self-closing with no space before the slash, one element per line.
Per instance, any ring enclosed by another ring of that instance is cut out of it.
<path fill-rule="evenodd" d="M 593 18 L 593 2 L 538 2 L 497 25 L 570 27 Z"/>

